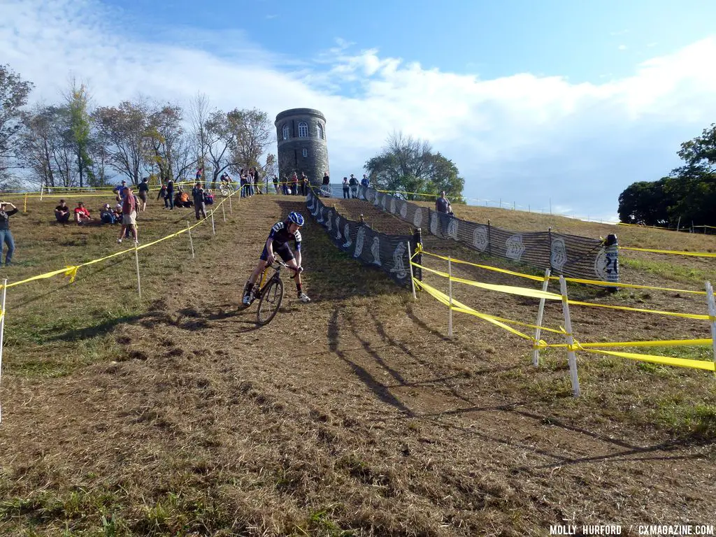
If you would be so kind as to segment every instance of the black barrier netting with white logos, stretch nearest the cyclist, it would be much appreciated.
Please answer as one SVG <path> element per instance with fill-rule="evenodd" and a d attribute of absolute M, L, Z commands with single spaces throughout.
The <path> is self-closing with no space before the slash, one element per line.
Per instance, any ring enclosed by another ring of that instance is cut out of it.
<path fill-rule="evenodd" d="M 412 236 L 386 235 L 365 223 L 348 220 L 334 208 L 326 207 L 312 190 L 306 207 L 338 248 L 364 265 L 382 269 L 398 285 L 410 287 L 410 251 L 415 251 L 416 246 Z"/>

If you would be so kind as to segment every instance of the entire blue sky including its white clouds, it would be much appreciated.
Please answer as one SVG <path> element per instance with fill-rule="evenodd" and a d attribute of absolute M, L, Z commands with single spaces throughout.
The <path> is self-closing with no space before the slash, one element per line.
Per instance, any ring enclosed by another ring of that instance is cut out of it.
<path fill-rule="evenodd" d="M 613 219 L 716 121 L 716 2 L 0 0 L 0 61 L 56 100 L 139 94 L 327 117 L 331 174 L 392 130 L 432 142 L 476 203 Z"/>

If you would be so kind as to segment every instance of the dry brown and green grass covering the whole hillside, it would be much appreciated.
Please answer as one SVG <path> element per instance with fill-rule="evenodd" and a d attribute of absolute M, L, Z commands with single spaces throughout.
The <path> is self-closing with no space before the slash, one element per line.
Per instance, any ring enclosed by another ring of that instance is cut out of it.
<path fill-rule="evenodd" d="M 624 534 L 632 523 L 712 523 L 712 375 L 580 354 L 576 400 L 563 353 L 545 353 L 534 369 L 526 342 L 459 314 L 448 339 L 445 308 L 424 294 L 412 301 L 339 253 L 315 223 L 304 233 L 314 303 L 298 304 L 287 285 L 279 316 L 256 329 L 255 308 L 236 309 L 243 281 L 269 226 L 301 200 L 241 203 L 228 223 L 219 217 L 216 236 L 210 226 L 196 234 L 195 260 L 185 238 L 145 251 L 142 301 L 131 257 L 82 271 L 71 285 L 53 279 L 9 291 L 0 532 L 523 536 L 562 521 L 621 523 Z M 12 279 L 115 251 L 116 228 L 51 225 L 52 205 L 13 217 L 20 264 Z M 337 208 L 364 213 L 379 231 L 408 231 L 367 203 Z M 184 211 L 153 205 L 142 241 L 183 225 L 180 215 L 193 216 Z M 493 224 L 526 225 L 503 213 Z M 601 233 L 564 220 L 554 220 L 560 231 Z M 455 243 L 425 243 L 508 266 Z M 644 266 L 627 266 L 624 278 L 674 285 L 668 271 L 654 276 Z M 491 314 L 536 314 L 533 301 L 455 293 Z M 570 293 L 705 309 L 688 295 Z M 546 323 L 560 316 L 551 304 Z M 664 319 L 573 311 L 581 341 L 709 337 L 706 324 Z"/>

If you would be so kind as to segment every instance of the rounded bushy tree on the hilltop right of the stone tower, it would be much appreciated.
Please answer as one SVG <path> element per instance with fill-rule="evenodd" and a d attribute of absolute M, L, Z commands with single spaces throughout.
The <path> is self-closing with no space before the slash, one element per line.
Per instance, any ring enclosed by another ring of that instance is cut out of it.
<path fill-rule="evenodd" d="M 426 140 L 393 132 L 364 168 L 377 188 L 397 190 L 407 199 L 420 198 L 415 193 L 436 195 L 445 190 L 453 203 L 465 203 L 465 180 L 458 167 L 441 153 L 433 153 Z"/>

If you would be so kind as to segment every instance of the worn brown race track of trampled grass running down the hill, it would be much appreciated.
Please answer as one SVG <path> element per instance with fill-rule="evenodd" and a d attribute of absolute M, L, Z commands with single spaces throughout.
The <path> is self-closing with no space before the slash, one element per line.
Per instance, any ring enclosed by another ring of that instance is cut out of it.
<path fill-rule="evenodd" d="M 175 276 L 183 293 L 117 329 L 125 360 L 42 384 L 4 379 L 0 450 L 14 488 L 0 492 L 111 493 L 135 533 L 522 536 L 564 521 L 628 535 L 632 523 L 714 523 L 713 446 L 625 423 L 621 408 L 703 374 L 643 378 L 628 397 L 610 377 L 573 400 L 561 358 L 535 372 L 527 344 L 460 316 L 447 339 L 442 307 L 337 255 L 315 223 L 304 232 L 314 303 L 299 304 L 289 281 L 279 316 L 256 329 L 255 307 L 236 311 L 243 282 L 271 224 L 302 206 L 254 198 L 241 231 L 221 231 L 235 235 L 223 251 Z M 464 296 L 490 313 L 534 311 Z M 589 334 L 598 317 L 575 322 Z M 652 321 L 636 322 L 677 331 Z M 616 393 L 600 407 L 589 392 L 601 390 Z M 185 523 L 156 523 L 137 495 Z"/>

